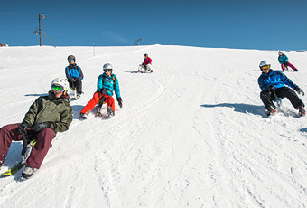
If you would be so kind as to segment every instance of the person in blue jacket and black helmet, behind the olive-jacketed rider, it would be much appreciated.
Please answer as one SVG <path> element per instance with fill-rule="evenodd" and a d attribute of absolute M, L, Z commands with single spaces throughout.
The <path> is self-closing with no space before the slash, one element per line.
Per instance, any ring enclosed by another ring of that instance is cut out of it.
<path fill-rule="evenodd" d="M 73 90 L 74 95 L 76 94 L 75 90 L 77 90 L 77 99 L 79 99 L 82 94 L 83 72 L 76 64 L 76 57 L 74 55 L 69 55 L 67 60 L 70 65 L 65 68 L 66 78 L 70 83 L 70 89 Z"/>

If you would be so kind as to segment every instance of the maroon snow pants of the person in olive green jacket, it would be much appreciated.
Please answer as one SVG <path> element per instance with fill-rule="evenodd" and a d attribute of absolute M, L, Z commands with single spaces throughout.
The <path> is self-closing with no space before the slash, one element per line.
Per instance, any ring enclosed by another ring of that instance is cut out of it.
<path fill-rule="evenodd" d="M 18 128 L 18 124 L 9 124 L 0 128 L 0 167 L 5 162 L 5 157 L 7 156 L 12 141 L 23 140 L 23 136 L 18 135 L 16 128 Z M 43 158 L 45 158 L 51 147 L 55 133 L 51 128 L 43 128 L 40 132 L 33 131 L 32 133 L 35 134 L 34 137 L 36 137 L 37 141 L 25 165 L 39 169 L 42 165 Z"/>

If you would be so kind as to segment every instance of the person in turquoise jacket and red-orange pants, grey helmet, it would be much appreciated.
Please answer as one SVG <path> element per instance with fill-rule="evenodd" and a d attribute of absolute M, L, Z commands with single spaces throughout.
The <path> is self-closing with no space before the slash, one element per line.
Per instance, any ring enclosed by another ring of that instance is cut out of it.
<path fill-rule="evenodd" d="M 123 100 L 120 97 L 119 84 L 116 74 L 113 74 L 113 67 L 110 63 L 103 66 L 104 73 L 100 74 L 97 82 L 97 91 L 93 98 L 88 101 L 88 104 L 80 111 L 80 118 L 86 119 L 88 113 L 95 108 L 98 102 L 107 103 L 107 115 L 112 117 L 115 115 L 115 101 L 113 91 L 115 91 L 116 99 L 120 108 L 123 107 Z M 98 114 L 100 109 L 98 109 Z"/>

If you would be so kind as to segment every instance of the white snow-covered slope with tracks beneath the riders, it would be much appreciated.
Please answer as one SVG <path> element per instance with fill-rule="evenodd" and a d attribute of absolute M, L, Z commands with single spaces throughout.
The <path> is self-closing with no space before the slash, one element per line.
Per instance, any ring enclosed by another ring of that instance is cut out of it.
<path fill-rule="evenodd" d="M 137 74 L 147 52 L 153 74 Z M 307 52 L 285 52 L 286 75 L 307 92 Z M 70 102 L 70 130 L 42 168 L 0 178 L 1 207 L 307 207 L 306 118 L 283 100 L 266 118 L 258 64 L 276 51 L 183 46 L 0 48 L 0 126 L 21 122 L 74 54 L 85 94 Z M 103 120 L 78 115 L 113 64 L 123 108 Z M 306 102 L 306 97 L 301 97 Z M 2 172 L 20 159 L 14 142 Z"/>

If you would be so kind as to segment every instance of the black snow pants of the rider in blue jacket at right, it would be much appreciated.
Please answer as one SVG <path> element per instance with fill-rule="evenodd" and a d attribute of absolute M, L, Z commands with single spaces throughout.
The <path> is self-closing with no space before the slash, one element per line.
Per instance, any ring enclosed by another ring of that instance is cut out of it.
<path fill-rule="evenodd" d="M 300 106 L 304 106 L 302 100 L 297 96 L 296 92 L 288 87 L 277 88 L 275 89 L 275 93 L 278 98 L 289 99 L 295 109 L 298 109 Z M 273 92 L 269 90 L 261 91 L 260 99 L 265 104 L 265 109 L 269 109 L 270 106 L 273 106 L 274 109 L 276 109 L 273 102 L 273 100 L 275 99 Z"/>

